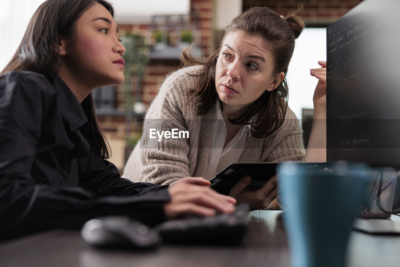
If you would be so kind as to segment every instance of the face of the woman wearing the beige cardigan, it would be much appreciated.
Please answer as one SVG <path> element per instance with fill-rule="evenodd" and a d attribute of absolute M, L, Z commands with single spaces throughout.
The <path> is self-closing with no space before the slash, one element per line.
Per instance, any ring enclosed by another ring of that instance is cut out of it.
<path fill-rule="evenodd" d="M 246 107 L 264 91 L 272 91 L 284 78 L 273 73 L 274 58 L 261 38 L 230 32 L 216 65 L 215 87 L 224 105 Z"/>

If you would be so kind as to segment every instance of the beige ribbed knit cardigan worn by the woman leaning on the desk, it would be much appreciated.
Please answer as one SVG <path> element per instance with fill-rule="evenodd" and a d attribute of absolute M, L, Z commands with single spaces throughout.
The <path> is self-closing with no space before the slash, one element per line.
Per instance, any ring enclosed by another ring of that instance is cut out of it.
<path fill-rule="evenodd" d="M 123 177 L 134 182 L 170 184 L 187 176 L 205 176 L 212 137 L 214 112 L 197 115 L 196 88 L 203 66 L 186 67 L 171 73 L 162 83 L 144 120 L 143 134 L 126 163 Z M 176 128 L 189 131 L 189 138 L 149 138 L 150 128 L 158 131 Z M 284 162 L 304 158 L 302 129 L 288 108 L 280 129 L 266 138 L 248 136 L 239 162 Z"/>

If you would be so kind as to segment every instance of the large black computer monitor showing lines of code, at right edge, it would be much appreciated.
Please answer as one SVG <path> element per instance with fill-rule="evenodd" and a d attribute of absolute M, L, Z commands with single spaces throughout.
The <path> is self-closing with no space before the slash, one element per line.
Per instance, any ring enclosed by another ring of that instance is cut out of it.
<path fill-rule="evenodd" d="M 400 169 L 400 1 L 364 0 L 327 29 L 327 161 Z"/>

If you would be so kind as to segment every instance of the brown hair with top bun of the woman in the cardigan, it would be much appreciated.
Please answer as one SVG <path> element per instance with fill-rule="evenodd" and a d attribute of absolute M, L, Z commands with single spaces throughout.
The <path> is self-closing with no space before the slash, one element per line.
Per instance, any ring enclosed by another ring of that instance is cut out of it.
<path fill-rule="evenodd" d="M 267 7 L 253 7 L 236 16 L 226 26 L 222 42 L 230 32 L 243 32 L 260 37 L 265 41 L 266 48 L 274 55 L 274 73 L 285 73 L 285 78 L 276 89 L 265 91 L 252 105 L 246 108 L 241 116 L 229 118 L 233 124 L 249 124 L 248 121 L 257 115 L 256 121 L 251 123 L 250 130 L 252 136 L 256 138 L 269 136 L 284 122 L 288 106 L 286 73 L 294 51 L 294 40 L 298 38 L 304 28 L 303 20 L 296 13 L 282 18 Z M 214 107 L 216 104 L 216 99 L 219 99 L 215 88 L 218 55 L 220 55 L 220 47 L 206 59 L 192 57 L 190 49 L 182 52 L 184 65 L 204 65 L 205 67 L 204 73 L 200 75 L 199 85 L 192 91 L 193 95 L 189 99 L 189 101 L 193 97 L 200 99 L 199 115 L 207 113 L 210 107 Z M 223 105 L 221 105 L 222 108 Z"/>

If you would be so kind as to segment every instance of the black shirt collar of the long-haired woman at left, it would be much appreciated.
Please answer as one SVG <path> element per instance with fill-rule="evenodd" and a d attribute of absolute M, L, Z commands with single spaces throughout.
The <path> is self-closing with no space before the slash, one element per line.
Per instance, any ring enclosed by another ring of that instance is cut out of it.
<path fill-rule="evenodd" d="M 76 131 L 88 121 L 82 106 L 68 85 L 66 85 L 59 76 L 53 79 L 52 84 L 57 91 L 57 97 L 64 119 L 69 124 L 71 131 Z"/>

